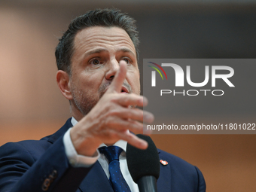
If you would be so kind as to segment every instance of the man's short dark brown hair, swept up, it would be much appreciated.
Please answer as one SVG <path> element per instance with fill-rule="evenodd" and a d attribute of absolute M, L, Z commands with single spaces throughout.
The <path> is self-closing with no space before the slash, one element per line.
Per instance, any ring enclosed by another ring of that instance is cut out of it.
<path fill-rule="evenodd" d="M 125 30 L 133 41 L 138 58 L 139 37 L 136 29 L 136 20 L 117 9 L 96 9 L 72 20 L 69 24 L 69 29 L 59 39 L 59 44 L 55 51 L 58 70 L 63 70 L 71 75 L 71 59 L 74 53 L 75 35 L 90 26 L 117 26 Z"/>

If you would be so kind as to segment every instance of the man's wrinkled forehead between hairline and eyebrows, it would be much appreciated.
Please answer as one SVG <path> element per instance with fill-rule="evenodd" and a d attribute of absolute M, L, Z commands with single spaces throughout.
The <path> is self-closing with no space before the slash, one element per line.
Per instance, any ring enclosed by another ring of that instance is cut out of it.
<path fill-rule="evenodd" d="M 91 50 L 93 48 L 105 47 L 116 49 L 126 47 L 136 53 L 133 41 L 127 32 L 119 27 L 93 26 L 82 29 L 75 35 L 75 52 L 77 50 Z"/>

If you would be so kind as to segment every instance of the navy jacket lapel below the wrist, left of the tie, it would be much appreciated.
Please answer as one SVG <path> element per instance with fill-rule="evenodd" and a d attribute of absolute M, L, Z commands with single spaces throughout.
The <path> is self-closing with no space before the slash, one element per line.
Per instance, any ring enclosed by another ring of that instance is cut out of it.
<path fill-rule="evenodd" d="M 84 178 L 79 188 L 83 192 L 114 192 L 98 161 Z"/>

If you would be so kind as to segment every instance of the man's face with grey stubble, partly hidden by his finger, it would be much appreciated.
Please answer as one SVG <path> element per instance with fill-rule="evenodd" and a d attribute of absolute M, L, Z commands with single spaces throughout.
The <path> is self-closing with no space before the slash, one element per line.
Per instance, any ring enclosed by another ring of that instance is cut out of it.
<path fill-rule="evenodd" d="M 93 26 L 75 36 L 70 87 L 72 104 L 87 114 L 99 101 L 119 69 L 127 63 L 126 80 L 120 92 L 140 93 L 136 49 L 129 35 L 118 27 Z"/>

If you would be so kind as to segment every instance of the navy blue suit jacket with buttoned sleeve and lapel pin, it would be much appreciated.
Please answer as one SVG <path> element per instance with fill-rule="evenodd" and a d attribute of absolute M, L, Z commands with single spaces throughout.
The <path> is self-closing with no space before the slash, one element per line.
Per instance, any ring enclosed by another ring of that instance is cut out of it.
<path fill-rule="evenodd" d="M 69 119 L 60 130 L 40 141 L 3 145 L 0 148 L 0 191 L 113 192 L 98 161 L 90 168 L 70 166 L 62 138 L 71 126 Z M 158 192 L 206 190 L 203 175 L 196 166 L 161 150 L 159 157 L 169 164 L 160 165 Z"/>

